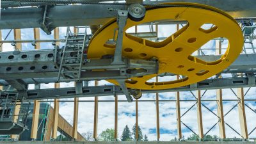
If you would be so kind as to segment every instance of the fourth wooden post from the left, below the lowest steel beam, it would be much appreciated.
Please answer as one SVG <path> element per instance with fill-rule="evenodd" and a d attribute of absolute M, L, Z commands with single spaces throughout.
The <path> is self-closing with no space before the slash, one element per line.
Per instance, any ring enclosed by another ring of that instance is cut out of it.
<path fill-rule="evenodd" d="M 73 131 L 72 131 L 72 138 L 77 140 L 77 122 L 78 122 L 78 102 L 79 98 L 74 98 L 74 116 L 73 116 Z"/>

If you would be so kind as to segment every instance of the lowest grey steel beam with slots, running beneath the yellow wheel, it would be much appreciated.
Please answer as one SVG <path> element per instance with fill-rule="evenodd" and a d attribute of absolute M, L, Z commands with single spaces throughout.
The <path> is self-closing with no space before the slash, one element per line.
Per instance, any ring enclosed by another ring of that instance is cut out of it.
<path fill-rule="evenodd" d="M 141 90 L 142 93 L 163 93 L 163 92 L 182 92 L 190 90 L 214 90 L 224 88 L 243 88 L 249 86 L 256 86 L 256 83 L 248 83 L 248 77 L 233 77 L 221 79 L 206 79 L 195 84 L 196 86 L 182 86 L 179 88 L 172 88 L 166 90 Z M 15 91 L 9 91 L 15 92 Z M 20 93 L 19 96 L 26 97 L 29 100 L 35 99 L 62 99 L 72 97 L 95 97 L 95 96 L 109 96 L 109 95 L 124 95 L 120 86 L 105 85 L 105 86 L 84 86 L 82 94 L 76 94 L 76 88 L 49 88 L 39 90 L 28 90 L 28 93 Z M 1 93 L 5 95 L 5 93 Z M 12 95 L 12 94 L 10 94 Z"/>

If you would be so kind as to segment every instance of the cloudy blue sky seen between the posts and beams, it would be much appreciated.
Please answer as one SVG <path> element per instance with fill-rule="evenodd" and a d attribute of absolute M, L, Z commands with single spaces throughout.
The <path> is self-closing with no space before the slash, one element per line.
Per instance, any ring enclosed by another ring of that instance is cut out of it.
<path fill-rule="evenodd" d="M 175 32 L 176 26 L 163 25 L 159 26 L 159 37 L 166 37 Z M 139 31 L 145 32 L 148 31 L 148 27 L 141 26 Z M 129 30 L 132 31 L 131 28 Z M 3 38 L 8 33 L 8 30 L 3 31 Z M 64 38 L 66 28 L 60 28 L 60 38 Z M 28 40 L 33 38 L 33 29 L 22 29 L 22 39 Z M 42 39 L 52 39 L 53 35 L 46 35 L 43 31 L 40 31 L 40 38 Z M 7 40 L 13 40 L 13 32 L 7 38 Z M 255 44 L 255 42 L 254 42 Z M 61 44 L 63 45 L 63 44 Z M 203 47 L 214 47 L 214 40 L 210 41 L 208 44 Z M 227 47 L 227 41 L 223 42 L 223 47 Z M 53 46 L 51 43 L 41 44 L 42 49 L 52 49 Z M 31 50 L 34 47 L 31 44 L 22 44 L 22 50 Z M 13 47 L 10 44 L 3 45 L 3 51 L 13 51 Z M 213 51 L 204 51 L 205 54 L 212 54 Z M 159 81 L 166 81 L 166 79 L 172 80 L 173 77 L 161 77 Z M 92 86 L 93 81 L 90 82 Z M 100 81 L 100 85 L 109 84 L 106 81 Z M 61 83 L 61 87 L 69 87 L 74 86 L 74 83 Z M 42 84 L 42 88 L 53 88 L 54 84 Z M 29 88 L 33 88 L 33 85 L 29 86 Z M 244 89 L 246 92 L 248 88 Z M 255 99 L 255 88 L 251 88 L 245 99 Z M 236 89 L 234 89 L 236 92 Z M 195 92 L 193 92 L 195 93 Z M 202 91 L 204 93 L 204 91 Z M 80 98 L 80 100 L 93 100 L 94 98 Z M 124 95 L 118 96 L 118 99 L 125 100 Z M 145 94 L 141 99 L 155 100 L 156 94 Z M 170 100 L 175 99 L 175 92 L 169 93 L 159 93 L 159 99 L 161 100 Z M 180 92 L 180 99 L 195 99 L 191 92 Z M 207 90 L 205 92 L 204 97 L 202 99 L 216 99 L 215 90 Z M 234 93 L 230 89 L 223 90 L 223 99 L 237 99 Z M 72 100 L 72 99 L 69 99 Z M 99 100 L 114 100 L 113 96 L 108 97 L 99 97 Z M 214 113 L 216 112 L 216 102 L 202 102 L 207 106 L 207 108 L 211 109 Z M 180 102 L 180 111 L 181 115 L 187 111 L 188 108 L 193 106 L 195 102 Z M 236 101 L 232 102 L 223 102 L 224 113 L 227 113 L 228 109 L 232 108 L 236 104 Z M 252 109 L 256 109 L 255 102 L 246 102 L 248 106 L 252 107 Z M 73 108 L 74 104 L 72 102 L 63 102 L 60 106 L 60 114 L 72 124 L 73 117 Z M 147 134 L 149 140 L 156 140 L 156 103 L 155 102 L 139 102 L 139 125 L 142 129 L 143 134 Z M 94 111 L 94 103 L 93 102 L 80 102 L 79 103 L 79 124 L 78 131 L 83 133 L 86 131 L 93 131 L 93 112 Z M 159 114 L 160 114 L 160 140 L 168 141 L 175 136 L 177 136 L 177 122 L 176 122 L 176 111 L 175 111 L 175 102 L 159 102 Z M 218 118 L 210 113 L 204 106 L 202 106 L 202 114 L 204 120 L 204 132 L 207 132 L 212 125 L 218 122 Z M 248 122 L 248 132 L 252 131 L 252 129 L 256 126 L 255 118 L 256 115 L 246 107 L 246 118 Z M 196 120 L 196 106 L 194 106 L 191 111 L 186 113 L 186 115 L 182 116 L 182 122 L 188 125 L 193 131 L 198 132 L 197 120 Z M 104 131 L 106 128 L 114 128 L 114 120 L 115 120 L 115 103 L 114 102 L 99 102 L 99 124 L 98 124 L 98 134 Z M 233 109 L 227 116 L 225 116 L 225 122 L 232 125 L 236 131 L 240 131 L 239 128 L 239 117 L 237 108 Z M 135 124 L 135 102 L 118 102 L 118 134 L 122 133 L 125 125 L 129 125 L 132 128 L 132 125 Z M 240 138 L 232 129 L 227 127 L 226 125 L 226 133 L 228 138 Z M 185 138 L 192 134 L 184 125 L 182 125 L 182 134 L 184 134 Z M 209 132 L 211 135 L 219 136 L 218 125 Z M 255 138 L 256 132 L 253 132 L 250 135 L 250 138 Z"/>

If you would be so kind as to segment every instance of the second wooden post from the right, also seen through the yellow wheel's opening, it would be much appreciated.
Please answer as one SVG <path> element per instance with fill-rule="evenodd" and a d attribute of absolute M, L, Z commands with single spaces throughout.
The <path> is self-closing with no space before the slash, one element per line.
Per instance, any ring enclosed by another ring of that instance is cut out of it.
<path fill-rule="evenodd" d="M 221 54 L 221 42 L 220 40 L 216 40 L 216 54 Z M 220 76 L 221 77 L 221 76 Z M 224 114 L 223 114 L 223 102 L 222 102 L 222 90 L 216 90 L 216 99 L 217 99 L 217 115 L 219 118 L 219 131 L 220 131 L 220 138 L 226 138 L 225 132 L 225 122 L 224 122 Z"/>

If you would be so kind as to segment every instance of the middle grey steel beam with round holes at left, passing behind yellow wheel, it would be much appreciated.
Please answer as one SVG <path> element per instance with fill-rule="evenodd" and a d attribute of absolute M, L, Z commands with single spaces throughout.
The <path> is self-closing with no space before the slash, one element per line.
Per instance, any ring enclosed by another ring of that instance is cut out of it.
<path fill-rule="evenodd" d="M 54 55 L 53 50 L 21 51 L 20 54 L 0 52 L 0 84 L 8 85 L 4 79 L 22 79 L 26 84 L 56 83 L 58 81 L 58 68 L 55 67 L 52 54 Z M 214 61 L 220 58 L 220 56 L 213 55 L 198 57 L 207 61 Z M 134 67 L 137 66 L 134 65 Z M 91 61 L 91 63 L 86 63 L 86 65 L 83 66 L 83 70 L 93 68 L 118 69 L 119 66 L 111 65 L 111 60 L 95 60 Z M 223 73 L 253 73 L 255 71 L 256 54 L 241 54 L 230 67 L 223 70 Z M 83 72 L 83 76 L 87 81 L 95 79 L 125 78 L 124 76 L 120 76 L 118 70 L 113 72 L 116 73 L 106 73 L 104 71 L 91 72 L 88 70 Z M 162 75 L 164 76 L 164 74 Z M 63 81 L 68 81 L 68 79 L 63 79 Z"/>

